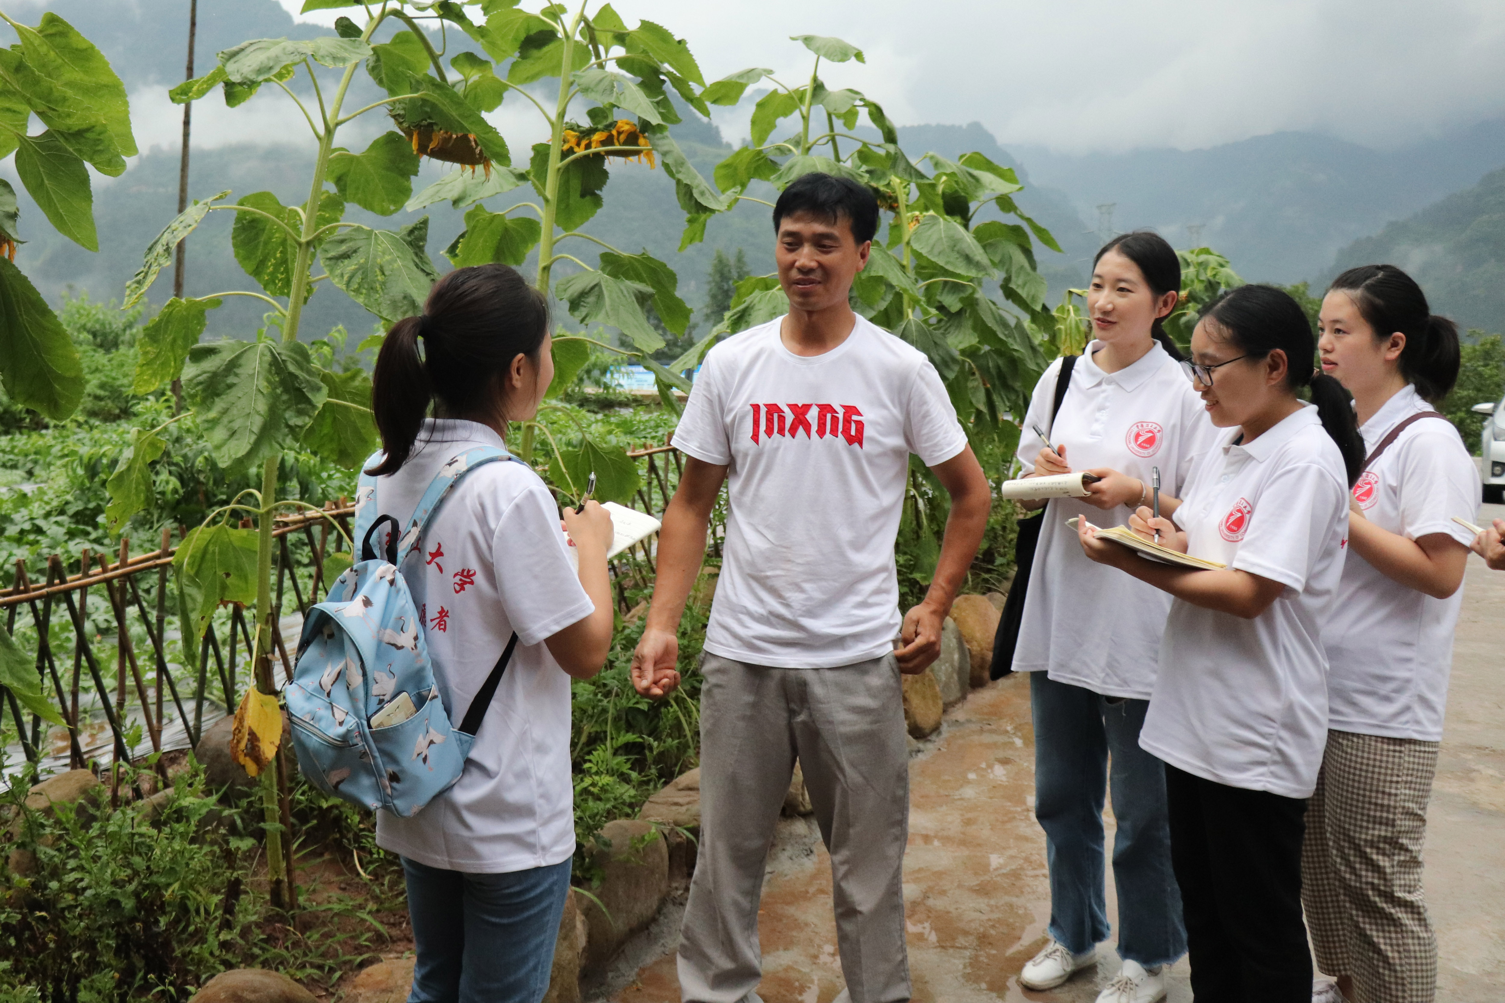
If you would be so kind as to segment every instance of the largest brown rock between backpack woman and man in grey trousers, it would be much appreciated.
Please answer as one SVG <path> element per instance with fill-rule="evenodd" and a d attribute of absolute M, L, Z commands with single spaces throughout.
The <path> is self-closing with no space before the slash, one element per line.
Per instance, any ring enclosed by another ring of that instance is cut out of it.
<path fill-rule="evenodd" d="M 607 823 L 600 838 L 610 845 L 594 853 L 602 872 L 591 901 L 576 904 L 585 914 L 585 968 L 602 970 L 617 949 L 647 926 L 668 895 L 668 845 L 653 823 L 617 820 Z M 605 911 L 602 911 L 605 907 Z"/>

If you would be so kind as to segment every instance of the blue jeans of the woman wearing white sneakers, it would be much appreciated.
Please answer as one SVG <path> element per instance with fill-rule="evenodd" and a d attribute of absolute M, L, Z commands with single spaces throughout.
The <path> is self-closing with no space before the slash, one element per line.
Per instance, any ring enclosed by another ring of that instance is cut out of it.
<path fill-rule="evenodd" d="M 1029 705 L 1035 818 L 1050 868 L 1050 935 L 1072 953 L 1108 940 L 1103 788 L 1109 788 L 1118 823 L 1118 955 L 1147 968 L 1175 961 L 1186 953 L 1186 926 L 1171 868 L 1165 764 L 1139 747 L 1150 702 L 1106 698 L 1031 672 Z"/>

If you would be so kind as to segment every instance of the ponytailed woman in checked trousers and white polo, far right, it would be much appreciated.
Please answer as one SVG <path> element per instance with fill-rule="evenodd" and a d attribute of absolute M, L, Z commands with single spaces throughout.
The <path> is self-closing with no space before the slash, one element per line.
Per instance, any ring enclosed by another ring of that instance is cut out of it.
<path fill-rule="evenodd" d="M 1458 377 L 1458 329 L 1394 265 L 1323 298 L 1321 368 L 1353 394 L 1368 459 L 1348 561 L 1323 626 L 1327 744 L 1308 806 L 1302 899 L 1317 967 L 1350 1000 L 1431 1003 L 1437 940 L 1421 850 L 1479 472 L 1433 409 Z M 1354 992 L 1356 991 L 1356 992 Z M 1330 983 L 1314 998 L 1333 1000 Z"/>

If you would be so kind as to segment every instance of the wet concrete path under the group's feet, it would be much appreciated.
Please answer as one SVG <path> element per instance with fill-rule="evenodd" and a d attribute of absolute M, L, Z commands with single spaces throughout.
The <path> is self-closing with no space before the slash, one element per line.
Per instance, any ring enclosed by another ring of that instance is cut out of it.
<path fill-rule="evenodd" d="M 1505 507 L 1481 511 L 1481 517 L 1496 516 L 1505 516 Z M 1505 573 L 1491 573 L 1470 558 L 1448 734 L 1428 814 L 1427 896 L 1442 955 L 1439 1003 L 1505 998 L 1502 677 Z M 1096 973 L 1082 973 L 1054 992 L 1019 986 L 1019 968 L 1044 944 L 1049 919 L 1032 774 L 1029 687 L 1017 677 L 975 690 L 911 759 L 905 898 L 915 1000 L 1090 1003 L 1117 973 L 1112 944 L 1103 944 Z M 1111 814 L 1105 821 L 1111 832 Z M 1111 883 L 1108 892 L 1114 919 Z M 759 992 L 768 1003 L 835 998 L 843 980 L 831 869 L 811 820 L 781 823 L 760 932 L 765 977 Z M 1186 961 L 1171 970 L 1171 1003 L 1187 1003 Z M 677 1001 L 673 950 L 614 988 L 610 997 L 620 1003 Z"/>

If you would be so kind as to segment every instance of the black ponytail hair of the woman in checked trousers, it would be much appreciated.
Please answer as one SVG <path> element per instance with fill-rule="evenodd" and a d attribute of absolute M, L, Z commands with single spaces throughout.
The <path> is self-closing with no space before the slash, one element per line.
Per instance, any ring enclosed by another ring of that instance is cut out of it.
<path fill-rule="evenodd" d="M 1400 332 L 1401 376 L 1436 403 L 1458 382 L 1458 325 L 1431 313 L 1427 293 L 1394 265 L 1361 265 L 1332 281 L 1327 292 L 1345 292 L 1380 341 Z"/>

